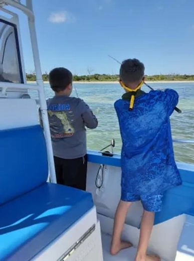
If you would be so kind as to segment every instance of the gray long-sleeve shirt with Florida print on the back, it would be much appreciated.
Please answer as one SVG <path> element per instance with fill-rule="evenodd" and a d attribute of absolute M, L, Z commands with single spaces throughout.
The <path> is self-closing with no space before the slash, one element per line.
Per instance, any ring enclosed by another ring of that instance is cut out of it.
<path fill-rule="evenodd" d="M 86 154 L 86 128 L 98 120 L 80 98 L 56 95 L 47 100 L 54 156 L 76 159 Z"/>

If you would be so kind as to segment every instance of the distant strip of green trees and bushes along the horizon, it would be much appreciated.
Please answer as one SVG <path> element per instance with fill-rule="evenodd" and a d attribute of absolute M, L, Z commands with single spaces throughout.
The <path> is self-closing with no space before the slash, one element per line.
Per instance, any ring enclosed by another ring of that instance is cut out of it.
<path fill-rule="evenodd" d="M 27 73 L 27 81 L 36 81 L 35 73 Z M 168 74 L 168 75 L 146 75 L 147 81 L 193 81 L 194 75 L 187 74 Z M 119 75 L 114 74 L 91 74 L 91 75 L 74 75 L 74 81 L 117 81 L 119 79 Z M 48 81 L 48 74 L 43 74 L 43 80 Z"/>

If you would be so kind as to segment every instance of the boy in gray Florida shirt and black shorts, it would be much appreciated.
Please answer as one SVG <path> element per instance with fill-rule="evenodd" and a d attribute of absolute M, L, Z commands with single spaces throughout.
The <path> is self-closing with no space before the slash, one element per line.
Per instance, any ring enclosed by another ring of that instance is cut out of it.
<path fill-rule="evenodd" d="M 47 100 L 57 183 L 86 190 L 86 128 L 96 128 L 97 118 L 80 98 L 70 97 L 72 73 L 55 68 L 49 83 L 55 96 Z"/>

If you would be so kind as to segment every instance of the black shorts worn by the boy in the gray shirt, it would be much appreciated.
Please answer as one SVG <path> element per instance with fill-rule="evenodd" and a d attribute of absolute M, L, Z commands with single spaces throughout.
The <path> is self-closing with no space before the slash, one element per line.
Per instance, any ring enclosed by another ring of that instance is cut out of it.
<path fill-rule="evenodd" d="M 57 183 L 86 190 L 87 155 L 77 159 L 54 157 Z"/>

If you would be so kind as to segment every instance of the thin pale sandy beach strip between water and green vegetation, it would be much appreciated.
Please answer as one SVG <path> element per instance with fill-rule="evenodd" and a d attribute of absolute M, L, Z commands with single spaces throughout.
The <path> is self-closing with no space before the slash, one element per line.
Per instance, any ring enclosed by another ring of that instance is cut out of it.
<path fill-rule="evenodd" d="M 146 81 L 146 83 L 194 83 L 194 81 Z M 27 81 L 27 83 L 36 83 L 36 81 Z M 49 83 L 49 81 L 44 81 Z M 73 81 L 73 83 L 80 84 L 116 84 L 118 81 Z"/>

